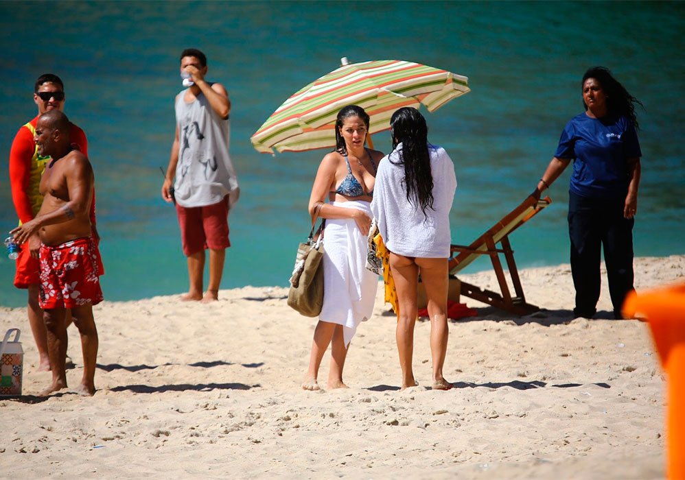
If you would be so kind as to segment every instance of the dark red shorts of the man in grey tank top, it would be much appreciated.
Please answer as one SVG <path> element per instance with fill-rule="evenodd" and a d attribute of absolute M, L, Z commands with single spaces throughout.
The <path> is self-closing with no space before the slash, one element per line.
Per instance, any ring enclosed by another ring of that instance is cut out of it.
<path fill-rule="evenodd" d="M 194 253 L 211 248 L 224 250 L 229 240 L 229 197 L 216 204 L 186 208 L 176 204 L 178 226 L 181 227 L 183 253 Z"/>

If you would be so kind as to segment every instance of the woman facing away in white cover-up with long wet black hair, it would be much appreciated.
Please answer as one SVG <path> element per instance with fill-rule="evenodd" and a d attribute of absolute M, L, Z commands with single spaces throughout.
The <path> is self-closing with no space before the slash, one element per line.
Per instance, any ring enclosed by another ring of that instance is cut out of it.
<path fill-rule="evenodd" d="M 397 110 L 390 120 L 393 152 L 376 175 L 371 211 L 390 253 L 399 318 L 397 350 L 402 389 L 417 385 L 412 369 L 419 273 L 430 316 L 433 389 L 450 389 L 443 377 L 447 352 L 448 258 L 450 208 L 454 200 L 454 165 L 445 149 L 428 143 L 428 128 L 415 108 Z"/>

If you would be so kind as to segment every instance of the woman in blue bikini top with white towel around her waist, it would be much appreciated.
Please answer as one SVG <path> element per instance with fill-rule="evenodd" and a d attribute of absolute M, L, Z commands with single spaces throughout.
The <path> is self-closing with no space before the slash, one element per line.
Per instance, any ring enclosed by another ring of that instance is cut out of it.
<path fill-rule="evenodd" d="M 328 388 L 345 388 L 343 367 L 349 341 L 360 322 L 368 320 L 378 276 L 364 265 L 371 226 L 371 198 L 382 152 L 364 147 L 369 115 L 349 105 L 338 112 L 336 149 L 321 160 L 309 211 L 326 219 L 323 243 L 323 307 L 314 330 L 310 364 L 303 389 L 318 390 L 318 368 L 331 346 Z M 329 203 L 323 203 L 328 196 Z"/>

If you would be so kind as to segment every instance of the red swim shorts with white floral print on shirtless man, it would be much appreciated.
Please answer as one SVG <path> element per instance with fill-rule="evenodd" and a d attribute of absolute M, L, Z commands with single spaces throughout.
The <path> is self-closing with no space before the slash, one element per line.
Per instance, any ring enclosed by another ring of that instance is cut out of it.
<path fill-rule="evenodd" d="M 42 309 L 73 309 L 102 302 L 100 252 L 92 237 L 40 246 Z"/>

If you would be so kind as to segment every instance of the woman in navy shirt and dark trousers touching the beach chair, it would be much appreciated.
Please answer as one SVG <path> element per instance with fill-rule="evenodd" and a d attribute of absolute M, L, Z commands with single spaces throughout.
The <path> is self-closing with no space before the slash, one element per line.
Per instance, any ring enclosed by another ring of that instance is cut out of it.
<path fill-rule="evenodd" d="M 642 104 L 605 67 L 586 71 L 582 89 L 585 112 L 566 124 L 533 195 L 539 197 L 573 160 L 568 198 L 573 313 L 587 318 L 596 313 L 603 245 L 614 316 L 620 318 L 633 289 L 632 230 L 642 156 L 635 105 Z"/>

